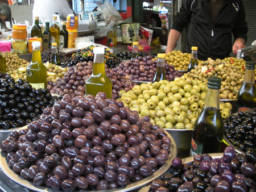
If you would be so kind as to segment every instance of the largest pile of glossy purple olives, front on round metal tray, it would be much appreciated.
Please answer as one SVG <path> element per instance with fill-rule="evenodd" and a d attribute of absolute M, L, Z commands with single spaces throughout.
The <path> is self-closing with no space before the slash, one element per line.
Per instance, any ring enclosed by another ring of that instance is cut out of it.
<path fill-rule="evenodd" d="M 166 132 L 121 101 L 66 94 L 1 142 L 10 168 L 35 186 L 104 190 L 150 176 L 169 157 Z"/>

